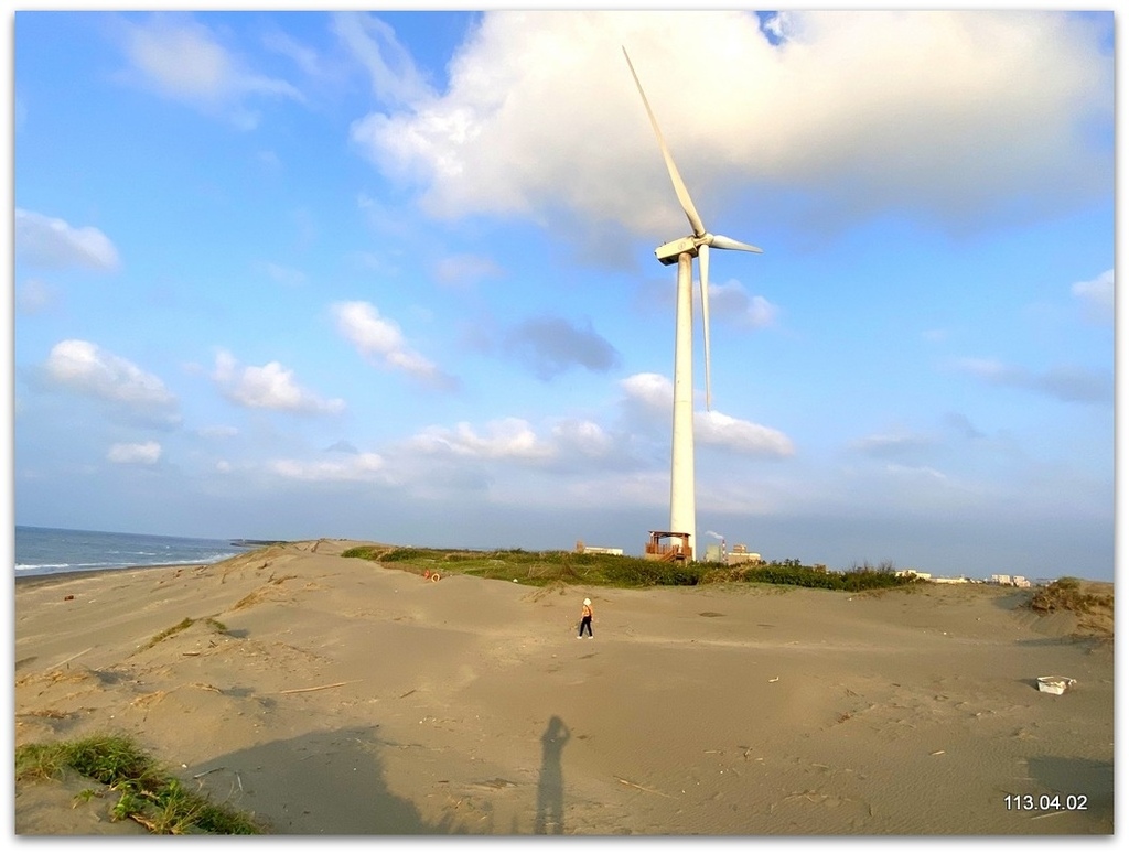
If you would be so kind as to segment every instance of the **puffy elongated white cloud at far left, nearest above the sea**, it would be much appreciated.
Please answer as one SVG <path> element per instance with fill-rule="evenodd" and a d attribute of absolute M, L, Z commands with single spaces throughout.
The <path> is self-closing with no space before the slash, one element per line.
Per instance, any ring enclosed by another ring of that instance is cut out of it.
<path fill-rule="evenodd" d="M 60 341 L 43 366 L 51 385 L 121 405 L 126 414 L 176 423 L 176 397 L 161 380 L 89 341 Z"/>

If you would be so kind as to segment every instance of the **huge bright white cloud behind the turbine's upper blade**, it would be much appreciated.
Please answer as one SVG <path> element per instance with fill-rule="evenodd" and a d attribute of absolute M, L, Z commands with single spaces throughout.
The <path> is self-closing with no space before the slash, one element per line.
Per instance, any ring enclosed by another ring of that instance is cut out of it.
<path fill-rule="evenodd" d="M 386 72 L 395 45 L 370 42 L 374 78 L 405 106 L 352 137 L 390 177 L 419 181 L 435 215 L 563 206 L 640 234 L 685 228 L 625 45 L 723 231 L 709 210 L 741 183 L 807 205 L 773 215 L 896 208 L 954 229 L 1108 192 L 1113 62 L 1082 16 L 787 11 L 772 26 L 778 44 L 745 11 L 488 11 L 441 94 Z"/>

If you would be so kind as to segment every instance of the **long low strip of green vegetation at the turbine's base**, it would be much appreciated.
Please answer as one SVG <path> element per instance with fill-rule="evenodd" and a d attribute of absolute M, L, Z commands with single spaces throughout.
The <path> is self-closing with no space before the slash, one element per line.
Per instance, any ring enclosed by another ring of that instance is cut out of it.
<path fill-rule="evenodd" d="M 589 587 L 642 588 L 689 587 L 720 582 L 790 584 L 826 590 L 861 591 L 909 587 L 916 582 L 894 572 L 886 562 L 844 572 L 828 572 L 822 566 L 805 566 L 796 560 L 723 566 L 714 563 L 664 563 L 625 555 L 577 552 L 526 552 L 520 548 L 473 551 L 465 548 L 390 548 L 358 546 L 342 552 L 342 557 L 358 557 L 395 565 L 409 572 L 474 575 L 523 584 L 586 584 Z"/>

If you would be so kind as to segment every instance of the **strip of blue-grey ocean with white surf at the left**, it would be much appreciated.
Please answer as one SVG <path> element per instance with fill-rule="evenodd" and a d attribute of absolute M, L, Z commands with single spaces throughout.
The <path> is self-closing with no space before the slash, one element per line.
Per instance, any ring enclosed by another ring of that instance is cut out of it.
<path fill-rule="evenodd" d="M 130 566 L 216 563 L 246 552 L 227 539 L 16 526 L 16 578 Z"/>

